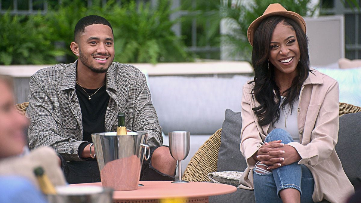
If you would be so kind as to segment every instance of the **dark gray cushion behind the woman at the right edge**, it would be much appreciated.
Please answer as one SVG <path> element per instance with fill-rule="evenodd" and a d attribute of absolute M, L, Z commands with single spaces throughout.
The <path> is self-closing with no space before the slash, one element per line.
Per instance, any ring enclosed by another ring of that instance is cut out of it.
<path fill-rule="evenodd" d="M 335 149 L 348 179 L 353 186 L 360 187 L 361 112 L 345 114 L 340 117 L 339 123 L 338 143 Z"/>

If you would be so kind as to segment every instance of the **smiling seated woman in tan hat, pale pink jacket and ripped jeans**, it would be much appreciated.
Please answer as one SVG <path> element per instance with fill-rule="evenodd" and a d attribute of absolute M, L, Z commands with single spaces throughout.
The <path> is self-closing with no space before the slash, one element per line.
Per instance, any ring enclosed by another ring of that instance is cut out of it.
<path fill-rule="evenodd" d="M 247 34 L 255 78 L 243 86 L 240 187 L 256 202 L 345 202 L 338 82 L 310 69 L 304 19 L 270 4 Z"/>

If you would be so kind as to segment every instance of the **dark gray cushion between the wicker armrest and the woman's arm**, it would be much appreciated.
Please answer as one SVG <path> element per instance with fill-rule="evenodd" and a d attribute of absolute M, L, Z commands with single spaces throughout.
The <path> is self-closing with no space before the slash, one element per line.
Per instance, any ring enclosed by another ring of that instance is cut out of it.
<path fill-rule="evenodd" d="M 241 112 L 226 109 L 225 121 L 222 124 L 217 171 L 244 171 L 247 168 L 247 163 L 239 150 L 241 128 Z"/>

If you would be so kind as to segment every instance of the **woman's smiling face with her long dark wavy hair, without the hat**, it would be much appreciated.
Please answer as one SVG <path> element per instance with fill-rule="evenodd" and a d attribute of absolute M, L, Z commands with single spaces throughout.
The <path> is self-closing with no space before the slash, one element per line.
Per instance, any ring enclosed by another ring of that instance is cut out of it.
<path fill-rule="evenodd" d="M 270 16 L 261 21 L 255 31 L 252 29 L 253 35 L 249 37 L 253 39 L 254 92 L 261 104 L 256 109 L 256 114 L 260 116 L 262 125 L 270 122 L 274 124 L 275 118 L 278 120 L 279 105 L 282 109 L 293 105 L 310 72 L 308 40 L 304 32 L 306 28 L 300 26 L 304 21 L 301 24 L 296 22 L 284 16 Z M 265 84 L 270 88 L 264 88 Z M 272 96 L 271 91 L 275 91 L 274 97 L 277 101 L 264 97 Z M 285 97 L 282 104 L 280 96 Z"/>

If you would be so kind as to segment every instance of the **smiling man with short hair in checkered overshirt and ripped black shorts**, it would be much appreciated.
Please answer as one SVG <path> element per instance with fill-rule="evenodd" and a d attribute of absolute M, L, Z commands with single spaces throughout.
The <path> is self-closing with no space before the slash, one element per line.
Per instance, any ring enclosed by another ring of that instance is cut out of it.
<path fill-rule="evenodd" d="M 151 161 L 144 161 L 141 180 L 174 180 L 176 163 L 169 148 L 161 146 L 145 75 L 113 62 L 110 23 L 100 16 L 82 18 L 70 48 L 78 56 L 74 63 L 39 70 L 30 79 L 30 148 L 53 147 L 67 161 L 69 183 L 100 182 L 97 161 L 90 155 L 91 133 L 116 131 L 117 113 L 124 112 L 127 129 L 148 133 Z"/>

